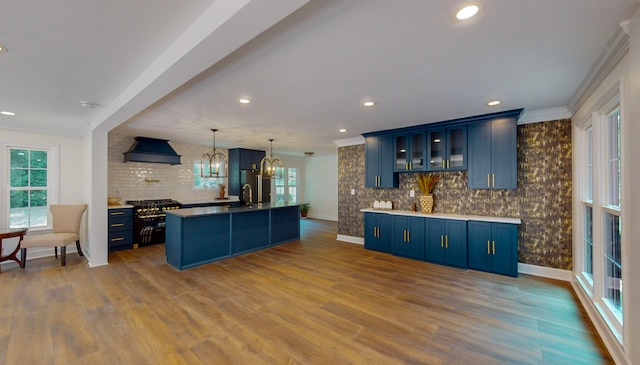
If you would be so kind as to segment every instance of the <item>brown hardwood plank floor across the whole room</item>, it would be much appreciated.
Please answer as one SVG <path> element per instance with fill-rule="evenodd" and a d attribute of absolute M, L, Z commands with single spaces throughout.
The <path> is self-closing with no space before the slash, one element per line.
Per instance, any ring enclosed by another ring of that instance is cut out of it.
<path fill-rule="evenodd" d="M 185 271 L 164 245 L 0 274 L 1 364 L 607 364 L 571 287 L 364 250 L 334 222 Z"/>

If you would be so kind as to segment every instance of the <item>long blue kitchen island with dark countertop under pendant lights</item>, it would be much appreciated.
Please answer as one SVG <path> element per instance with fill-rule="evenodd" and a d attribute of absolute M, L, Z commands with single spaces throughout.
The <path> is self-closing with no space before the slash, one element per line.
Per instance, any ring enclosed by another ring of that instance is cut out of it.
<path fill-rule="evenodd" d="M 301 204 L 167 211 L 167 263 L 183 270 L 299 240 Z"/>

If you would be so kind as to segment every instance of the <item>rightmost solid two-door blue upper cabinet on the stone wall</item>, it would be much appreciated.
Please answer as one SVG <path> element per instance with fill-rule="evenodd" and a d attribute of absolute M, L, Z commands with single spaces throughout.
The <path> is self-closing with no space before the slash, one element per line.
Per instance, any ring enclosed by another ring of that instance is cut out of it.
<path fill-rule="evenodd" d="M 516 120 L 500 118 L 468 126 L 469 188 L 518 188 Z"/>

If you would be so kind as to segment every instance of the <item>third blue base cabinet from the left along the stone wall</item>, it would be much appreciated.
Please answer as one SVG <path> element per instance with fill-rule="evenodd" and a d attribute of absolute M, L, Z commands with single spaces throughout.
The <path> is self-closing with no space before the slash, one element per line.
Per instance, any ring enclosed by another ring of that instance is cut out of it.
<path fill-rule="evenodd" d="M 427 221 L 427 260 L 467 268 L 467 222 L 451 219 Z"/>

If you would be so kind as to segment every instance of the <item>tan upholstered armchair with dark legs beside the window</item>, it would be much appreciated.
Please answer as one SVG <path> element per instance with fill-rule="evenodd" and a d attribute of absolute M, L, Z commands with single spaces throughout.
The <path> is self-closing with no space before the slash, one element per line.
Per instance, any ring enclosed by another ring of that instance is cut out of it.
<path fill-rule="evenodd" d="M 84 256 L 80 248 L 80 222 L 82 215 L 87 210 L 87 205 L 51 205 L 49 209 L 53 218 L 53 232 L 24 236 L 20 242 L 22 268 L 27 262 L 27 248 L 29 247 L 54 247 L 56 259 L 58 258 L 58 247 L 60 247 L 62 266 L 67 264 L 67 245 L 69 244 L 75 242 L 78 254 Z"/>

